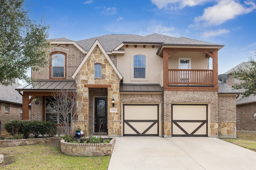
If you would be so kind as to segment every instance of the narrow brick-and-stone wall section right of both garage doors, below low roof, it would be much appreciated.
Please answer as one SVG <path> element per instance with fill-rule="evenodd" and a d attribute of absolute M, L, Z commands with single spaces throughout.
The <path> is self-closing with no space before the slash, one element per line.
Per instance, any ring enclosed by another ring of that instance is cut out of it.
<path fill-rule="evenodd" d="M 236 96 L 218 96 L 218 135 L 236 137 Z M 226 136 L 226 137 L 228 137 Z"/>

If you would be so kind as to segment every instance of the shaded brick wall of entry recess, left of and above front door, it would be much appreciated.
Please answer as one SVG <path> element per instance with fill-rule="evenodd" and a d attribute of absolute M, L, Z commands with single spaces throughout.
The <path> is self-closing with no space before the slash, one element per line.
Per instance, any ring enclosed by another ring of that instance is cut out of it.
<path fill-rule="evenodd" d="M 89 88 L 88 132 L 94 133 L 94 97 L 108 97 L 108 88 Z"/>

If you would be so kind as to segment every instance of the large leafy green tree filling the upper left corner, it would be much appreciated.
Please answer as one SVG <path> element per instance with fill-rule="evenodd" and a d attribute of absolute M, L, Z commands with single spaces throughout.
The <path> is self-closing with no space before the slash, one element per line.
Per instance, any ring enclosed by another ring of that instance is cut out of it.
<path fill-rule="evenodd" d="M 24 0 L 0 0 L 0 84 L 8 86 L 13 78 L 31 82 L 29 68 L 38 70 L 48 64 L 48 28 L 30 20 Z"/>

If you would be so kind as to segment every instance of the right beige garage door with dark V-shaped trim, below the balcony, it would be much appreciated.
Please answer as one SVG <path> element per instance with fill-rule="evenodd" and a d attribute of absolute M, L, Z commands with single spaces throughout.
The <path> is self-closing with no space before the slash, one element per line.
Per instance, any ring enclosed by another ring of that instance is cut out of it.
<path fill-rule="evenodd" d="M 173 137 L 207 137 L 207 104 L 172 104 Z"/>

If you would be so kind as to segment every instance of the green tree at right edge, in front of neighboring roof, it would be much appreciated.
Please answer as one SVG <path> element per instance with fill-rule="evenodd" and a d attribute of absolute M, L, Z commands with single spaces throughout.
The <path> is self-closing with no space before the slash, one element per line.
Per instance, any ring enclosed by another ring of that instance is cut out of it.
<path fill-rule="evenodd" d="M 251 94 L 256 95 L 256 61 L 250 57 L 248 65 L 238 67 L 232 72 L 232 77 L 241 80 L 240 83 L 235 83 L 232 88 L 245 89 L 241 94 L 248 97 Z"/>

